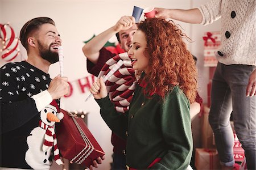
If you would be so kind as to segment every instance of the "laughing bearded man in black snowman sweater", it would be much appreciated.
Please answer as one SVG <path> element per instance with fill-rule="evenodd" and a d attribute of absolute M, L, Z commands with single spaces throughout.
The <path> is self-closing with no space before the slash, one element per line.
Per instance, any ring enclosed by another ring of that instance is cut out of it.
<path fill-rule="evenodd" d="M 44 138 L 35 131 L 46 117 L 42 114 L 49 108 L 59 110 L 60 97 L 68 94 L 68 78 L 51 79 L 48 74 L 49 66 L 59 61 L 60 34 L 51 18 L 39 17 L 23 25 L 20 41 L 27 50 L 27 61 L 7 63 L 0 69 L 0 169 L 49 169 L 53 148 L 43 151 Z M 58 155 L 55 149 L 54 159 L 61 164 Z"/>

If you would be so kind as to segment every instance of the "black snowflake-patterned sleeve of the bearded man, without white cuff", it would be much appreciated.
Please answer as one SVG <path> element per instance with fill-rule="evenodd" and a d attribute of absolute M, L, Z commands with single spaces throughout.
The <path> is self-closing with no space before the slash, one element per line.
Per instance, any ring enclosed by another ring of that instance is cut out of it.
<path fill-rule="evenodd" d="M 15 69 L 12 63 L 0 69 L 1 134 L 19 128 L 38 114 L 35 100 L 30 97 L 19 99 L 19 80 Z"/>

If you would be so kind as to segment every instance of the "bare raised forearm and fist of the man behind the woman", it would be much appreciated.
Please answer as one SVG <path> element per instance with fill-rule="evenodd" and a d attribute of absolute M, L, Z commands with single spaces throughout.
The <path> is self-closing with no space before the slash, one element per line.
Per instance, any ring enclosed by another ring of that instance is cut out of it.
<path fill-rule="evenodd" d="M 115 35 L 115 33 L 131 28 L 135 24 L 133 16 L 122 16 L 118 22 L 106 31 L 100 33 L 82 47 L 85 57 L 92 63 L 96 64 L 100 56 L 101 48 L 108 42 L 108 40 Z"/>

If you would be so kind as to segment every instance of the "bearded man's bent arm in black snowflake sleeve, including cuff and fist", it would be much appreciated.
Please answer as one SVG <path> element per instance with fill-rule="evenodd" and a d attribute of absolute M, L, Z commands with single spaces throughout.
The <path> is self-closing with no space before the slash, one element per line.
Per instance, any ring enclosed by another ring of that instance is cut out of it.
<path fill-rule="evenodd" d="M 22 89 L 26 91 L 26 85 L 19 80 L 18 73 L 9 71 L 15 66 L 11 64 L 0 70 L 1 134 L 26 124 L 53 99 L 59 99 L 68 93 L 67 78 L 57 76 L 49 83 L 48 90 L 31 94 L 31 97 L 22 96 Z"/>

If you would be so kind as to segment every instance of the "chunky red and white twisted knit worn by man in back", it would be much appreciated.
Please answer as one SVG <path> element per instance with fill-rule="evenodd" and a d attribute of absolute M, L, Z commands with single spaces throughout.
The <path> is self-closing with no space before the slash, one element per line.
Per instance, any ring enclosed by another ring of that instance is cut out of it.
<path fill-rule="evenodd" d="M 118 54 L 106 61 L 98 77 L 107 75 L 120 59 L 123 60 L 123 65 L 106 80 L 105 84 L 109 92 L 110 100 L 115 105 L 115 109 L 118 112 L 125 113 L 129 110 L 129 105 L 137 84 L 135 71 L 131 65 L 131 59 L 128 54 Z"/>

